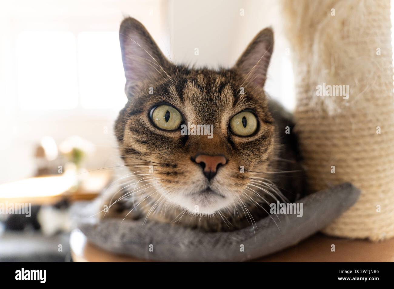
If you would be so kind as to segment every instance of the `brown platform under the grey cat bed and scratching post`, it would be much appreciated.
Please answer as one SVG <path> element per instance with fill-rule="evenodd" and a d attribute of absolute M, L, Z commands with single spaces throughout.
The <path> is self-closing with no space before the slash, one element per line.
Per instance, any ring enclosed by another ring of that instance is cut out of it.
<path fill-rule="evenodd" d="M 331 252 L 335 244 L 335 252 Z M 71 257 L 75 262 L 141 262 L 130 256 L 107 252 L 87 241 L 80 230 L 70 236 Z M 259 258 L 258 262 L 392 262 L 394 239 L 381 242 L 351 240 L 316 234 L 281 252 Z"/>

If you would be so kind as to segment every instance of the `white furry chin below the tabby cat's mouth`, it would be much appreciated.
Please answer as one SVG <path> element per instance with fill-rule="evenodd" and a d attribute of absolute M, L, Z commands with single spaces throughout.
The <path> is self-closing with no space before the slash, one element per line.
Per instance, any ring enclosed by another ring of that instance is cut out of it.
<path fill-rule="evenodd" d="M 177 204 L 192 214 L 212 215 L 231 206 L 233 201 L 210 189 L 178 197 Z"/>

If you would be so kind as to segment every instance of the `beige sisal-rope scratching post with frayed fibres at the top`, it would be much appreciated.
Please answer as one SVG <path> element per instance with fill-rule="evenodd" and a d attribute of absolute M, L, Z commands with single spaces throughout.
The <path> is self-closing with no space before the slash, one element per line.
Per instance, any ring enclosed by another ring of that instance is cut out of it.
<path fill-rule="evenodd" d="M 374 241 L 393 237 L 390 1 L 284 0 L 283 10 L 294 58 L 296 131 L 310 188 L 349 181 L 362 191 L 323 232 Z"/>

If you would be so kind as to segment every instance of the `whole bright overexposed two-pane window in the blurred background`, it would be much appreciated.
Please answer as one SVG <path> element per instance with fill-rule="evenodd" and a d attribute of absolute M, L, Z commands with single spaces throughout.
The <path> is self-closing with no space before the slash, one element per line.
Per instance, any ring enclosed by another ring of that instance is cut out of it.
<path fill-rule="evenodd" d="M 19 107 L 119 109 L 125 105 L 117 32 L 23 31 L 17 37 Z"/>

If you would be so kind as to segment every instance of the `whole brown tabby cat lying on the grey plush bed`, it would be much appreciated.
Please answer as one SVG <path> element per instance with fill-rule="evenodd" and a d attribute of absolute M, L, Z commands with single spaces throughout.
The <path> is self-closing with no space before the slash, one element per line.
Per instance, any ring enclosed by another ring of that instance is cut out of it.
<path fill-rule="evenodd" d="M 272 29 L 218 70 L 172 64 L 134 18 L 119 38 L 127 103 L 114 129 L 128 174 L 104 197 L 103 217 L 228 231 L 254 226 L 277 199 L 302 196 L 292 116 L 263 90 Z"/>

